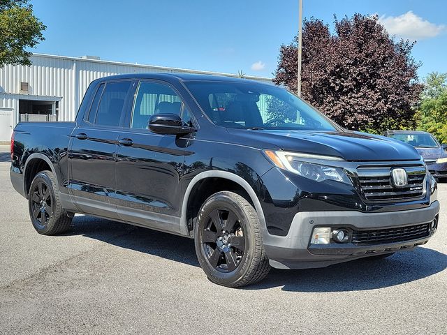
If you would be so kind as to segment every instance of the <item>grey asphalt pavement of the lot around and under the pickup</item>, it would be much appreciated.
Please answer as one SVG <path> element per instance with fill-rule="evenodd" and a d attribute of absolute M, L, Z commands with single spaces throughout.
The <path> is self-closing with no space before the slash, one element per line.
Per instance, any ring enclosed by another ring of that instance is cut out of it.
<path fill-rule="evenodd" d="M 67 234 L 37 234 L 8 159 L 0 153 L 0 334 L 447 334 L 447 184 L 439 230 L 415 251 L 273 269 L 230 289 L 207 280 L 191 239 L 87 216 Z"/>

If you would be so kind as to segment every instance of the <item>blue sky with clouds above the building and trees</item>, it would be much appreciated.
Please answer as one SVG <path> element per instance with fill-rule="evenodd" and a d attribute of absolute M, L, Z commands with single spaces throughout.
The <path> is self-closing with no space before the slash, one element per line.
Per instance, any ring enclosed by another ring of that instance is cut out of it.
<path fill-rule="evenodd" d="M 34 52 L 263 77 L 298 30 L 298 0 L 31 3 L 47 25 Z M 303 17 L 332 23 L 353 13 L 377 13 L 393 34 L 416 39 L 420 77 L 447 72 L 446 0 L 303 0 Z"/>

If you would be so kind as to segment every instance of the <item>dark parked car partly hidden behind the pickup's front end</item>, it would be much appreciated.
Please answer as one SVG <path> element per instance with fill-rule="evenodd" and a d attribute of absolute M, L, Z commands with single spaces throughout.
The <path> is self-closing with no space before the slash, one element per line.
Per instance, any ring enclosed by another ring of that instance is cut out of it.
<path fill-rule="evenodd" d="M 439 144 L 432 134 L 425 131 L 386 131 L 383 135 L 411 144 L 424 158 L 433 177 L 447 181 L 447 144 Z"/>

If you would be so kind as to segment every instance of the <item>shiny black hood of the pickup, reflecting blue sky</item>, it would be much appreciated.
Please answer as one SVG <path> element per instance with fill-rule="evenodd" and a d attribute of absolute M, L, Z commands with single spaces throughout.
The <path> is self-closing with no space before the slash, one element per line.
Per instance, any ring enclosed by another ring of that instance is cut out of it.
<path fill-rule="evenodd" d="M 229 133 L 244 137 L 244 143 L 262 142 L 288 151 L 299 151 L 323 156 L 339 156 L 346 161 L 415 161 L 420 154 L 409 144 L 390 137 L 359 132 L 239 130 Z M 241 139 L 243 140 L 243 139 Z M 255 142 L 256 141 L 256 142 Z"/>

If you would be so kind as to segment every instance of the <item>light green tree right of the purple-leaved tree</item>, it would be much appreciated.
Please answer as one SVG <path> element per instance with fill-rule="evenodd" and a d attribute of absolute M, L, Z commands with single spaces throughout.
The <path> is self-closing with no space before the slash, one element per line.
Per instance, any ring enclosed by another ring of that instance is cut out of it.
<path fill-rule="evenodd" d="M 430 73 L 416 113 L 418 129 L 447 143 L 447 73 Z"/>

